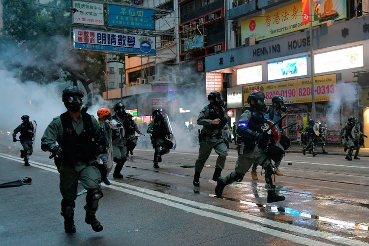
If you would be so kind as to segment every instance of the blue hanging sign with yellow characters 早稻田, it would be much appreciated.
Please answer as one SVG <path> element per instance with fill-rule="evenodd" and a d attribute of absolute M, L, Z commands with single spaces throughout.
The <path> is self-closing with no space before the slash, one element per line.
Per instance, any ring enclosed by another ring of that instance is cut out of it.
<path fill-rule="evenodd" d="M 108 4 L 108 23 L 112 26 L 155 30 L 154 9 Z"/>

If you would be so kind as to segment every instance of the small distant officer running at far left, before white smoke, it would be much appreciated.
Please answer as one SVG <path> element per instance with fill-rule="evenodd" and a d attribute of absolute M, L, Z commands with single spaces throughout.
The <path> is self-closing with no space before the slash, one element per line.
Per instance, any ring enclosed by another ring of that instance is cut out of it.
<path fill-rule="evenodd" d="M 14 129 L 13 132 L 13 142 L 17 142 L 16 136 L 18 132 L 21 132 L 19 139 L 21 141 L 23 150 L 21 150 L 21 158 L 24 158 L 24 165 L 29 166 L 28 157 L 32 154 L 33 148 L 33 135 L 34 135 L 34 126 L 30 122 L 30 117 L 28 115 L 24 115 L 21 117 L 23 123 L 18 125 L 17 128 Z"/>

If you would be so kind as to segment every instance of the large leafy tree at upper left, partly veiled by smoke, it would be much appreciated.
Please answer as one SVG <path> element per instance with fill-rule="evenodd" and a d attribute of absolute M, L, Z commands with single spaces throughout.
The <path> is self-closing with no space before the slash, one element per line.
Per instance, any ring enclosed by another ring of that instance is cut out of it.
<path fill-rule="evenodd" d="M 70 1 L 51 0 L 45 5 L 37 0 L 22 1 L 3 0 L 0 48 L 9 51 L 3 57 L 4 65 L 18 69 L 22 81 L 80 81 L 91 105 L 89 85 L 104 85 L 105 54 L 71 50 Z M 116 59 L 122 61 L 124 56 Z"/>

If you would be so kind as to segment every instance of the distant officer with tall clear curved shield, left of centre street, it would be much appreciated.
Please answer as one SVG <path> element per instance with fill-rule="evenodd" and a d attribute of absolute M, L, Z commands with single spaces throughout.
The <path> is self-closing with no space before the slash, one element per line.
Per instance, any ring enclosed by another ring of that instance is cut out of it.
<path fill-rule="evenodd" d="M 154 109 L 153 120 L 147 128 L 147 133 L 152 134 L 151 143 L 155 150 L 154 168 L 160 168 L 158 163 L 161 162 L 161 155 L 168 154 L 170 149 L 173 148 L 173 143 L 169 140 L 171 134 L 170 129 L 161 111 L 161 109 Z"/>

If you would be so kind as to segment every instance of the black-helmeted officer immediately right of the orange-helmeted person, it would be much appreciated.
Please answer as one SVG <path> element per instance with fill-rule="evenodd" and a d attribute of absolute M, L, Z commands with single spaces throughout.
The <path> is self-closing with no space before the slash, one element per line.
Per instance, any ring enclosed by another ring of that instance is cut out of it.
<path fill-rule="evenodd" d="M 113 178 L 123 179 L 121 171 L 127 160 L 127 142 L 123 123 L 127 118 L 127 113 L 125 112 L 125 106 L 121 102 L 115 104 L 114 112 L 112 123 L 117 124 L 117 127 L 113 127 L 113 155 L 114 162 L 117 164 L 114 168 Z"/>

